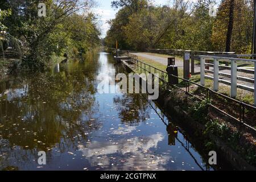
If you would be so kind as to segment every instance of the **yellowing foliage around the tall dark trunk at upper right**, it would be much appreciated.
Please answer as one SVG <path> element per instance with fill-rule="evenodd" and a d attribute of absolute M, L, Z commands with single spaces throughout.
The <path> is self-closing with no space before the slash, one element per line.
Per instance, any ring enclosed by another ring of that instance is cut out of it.
<path fill-rule="evenodd" d="M 229 15 L 230 0 L 223 0 L 218 7 L 217 17 L 213 25 L 212 43 L 214 50 L 250 53 L 253 36 L 252 1 L 234 1 L 232 36 L 230 35 L 230 30 L 228 31 L 231 27 Z"/>

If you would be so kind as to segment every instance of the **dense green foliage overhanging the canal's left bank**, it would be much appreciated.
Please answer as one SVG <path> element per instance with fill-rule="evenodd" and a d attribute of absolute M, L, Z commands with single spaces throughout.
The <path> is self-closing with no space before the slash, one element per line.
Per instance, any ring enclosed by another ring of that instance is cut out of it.
<path fill-rule="evenodd" d="M 91 12 L 94 2 L 46 0 L 46 17 L 38 16 L 39 0 L 3 1 L 3 9 L 11 9 L 3 23 L 7 31 L 23 42 L 22 66 L 46 69 L 52 56 L 84 55 L 100 44 L 96 16 Z"/>

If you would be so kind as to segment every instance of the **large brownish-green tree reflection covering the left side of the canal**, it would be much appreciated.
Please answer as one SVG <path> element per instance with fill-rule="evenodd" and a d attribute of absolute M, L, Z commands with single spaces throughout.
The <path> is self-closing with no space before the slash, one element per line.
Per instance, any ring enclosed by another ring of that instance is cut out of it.
<path fill-rule="evenodd" d="M 5 156 L 16 162 L 32 162 L 31 158 L 37 158 L 36 151 L 51 153 L 55 144 L 63 152 L 76 150 L 78 143 L 85 143 L 85 133 L 99 127 L 97 122 L 88 119 L 97 113 L 97 106 L 93 107 L 97 67 L 88 61 L 63 66 L 57 74 L 38 73 L 27 78 L 25 95 L 13 100 L 3 96 L 0 154 L 7 153 Z M 12 92 L 14 90 L 8 94 Z M 5 165 L 1 165 L 0 158 L 1 166 Z"/>

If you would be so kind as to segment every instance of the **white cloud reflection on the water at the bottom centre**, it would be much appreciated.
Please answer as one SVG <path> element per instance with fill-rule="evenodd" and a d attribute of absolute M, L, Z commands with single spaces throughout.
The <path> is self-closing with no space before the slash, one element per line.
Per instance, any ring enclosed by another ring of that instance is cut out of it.
<path fill-rule="evenodd" d="M 78 147 L 92 166 L 101 166 L 110 170 L 164 170 L 163 166 L 170 157 L 152 156 L 153 153 L 149 151 L 150 148 L 156 148 L 163 138 L 162 134 L 154 134 L 143 139 L 139 137 L 121 139 L 118 143 L 94 141 L 87 148 L 82 145 Z M 112 154 L 115 156 L 112 157 Z"/>

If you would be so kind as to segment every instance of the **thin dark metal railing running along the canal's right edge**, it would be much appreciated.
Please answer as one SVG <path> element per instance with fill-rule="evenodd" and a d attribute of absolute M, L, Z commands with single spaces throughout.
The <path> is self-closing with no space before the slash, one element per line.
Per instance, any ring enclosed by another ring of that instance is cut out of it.
<path fill-rule="evenodd" d="M 210 108 L 214 109 L 218 113 L 225 115 L 229 119 L 232 119 L 236 124 L 241 124 L 245 126 L 246 129 L 256 132 L 256 107 L 238 101 L 234 98 L 225 96 L 224 94 L 218 93 L 212 89 L 206 88 L 203 85 L 197 84 L 190 80 L 186 80 L 181 77 L 170 75 L 167 72 L 164 72 L 158 68 L 152 67 L 149 64 L 143 63 L 138 60 L 138 57 L 135 55 L 129 55 L 132 59 L 126 61 L 130 62 L 129 67 L 137 73 L 158 73 L 158 78 L 162 81 L 163 84 L 171 86 L 171 88 L 180 90 L 184 92 L 187 96 L 190 96 L 193 100 L 194 98 L 198 101 L 209 100 L 211 101 Z M 179 79 L 179 84 L 173 85 L 168 82 L 168 76 L 176 77 Z M 197 87 L 195 92 L 195 87 Z M 226 104 L 229 107 L 226 107 Z"/>

